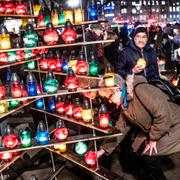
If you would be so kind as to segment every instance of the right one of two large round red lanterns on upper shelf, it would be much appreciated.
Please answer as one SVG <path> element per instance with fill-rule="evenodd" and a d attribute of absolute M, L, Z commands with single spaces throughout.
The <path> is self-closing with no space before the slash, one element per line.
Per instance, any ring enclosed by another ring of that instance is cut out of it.
<path fill-rule="evenodd" d="M 66 44 L 73 43 L 76 40 L 76 31 L 73 29 L 71 22 L 68 20 L 65 23 L 65 29 L 62 33 L 62 39 Z"/>

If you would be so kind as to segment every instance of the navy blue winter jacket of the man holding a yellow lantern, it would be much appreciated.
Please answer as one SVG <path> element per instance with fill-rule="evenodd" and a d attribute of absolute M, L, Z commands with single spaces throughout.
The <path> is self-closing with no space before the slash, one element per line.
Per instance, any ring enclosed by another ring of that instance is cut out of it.
<path fill-rule="evenodd" d="M 132 74 L 132 69 L 136 65 L 138 58 L 144 58 L 147 63 L 146 68 L 140 75 L 145 76 L 148 81 L 159 78 L 157 57 L 154 49 L 146 45 L 141 51 L 135 46 L 133 40 L 129 41 L 128 46 L 120 52 L 115 72 L 126 78 L 127 74 Z"/>

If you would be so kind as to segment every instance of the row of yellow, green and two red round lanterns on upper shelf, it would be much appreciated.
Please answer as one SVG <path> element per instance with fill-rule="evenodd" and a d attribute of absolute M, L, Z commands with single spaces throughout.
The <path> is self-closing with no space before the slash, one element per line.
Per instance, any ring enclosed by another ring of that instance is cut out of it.
<path fill-rule="evenodd" d="M 52 23 L 47 23 L 46 30 L 43 34 L 43 40 L 46 45 L 56 45 L 59 42 L 59 34 L 54 29 Z M 73 43 L 76 40 L 76 31 L 73 29 L 73 25 L 69 20 L 65 23 L 65 28 L 61 34 L 62 40 L 67 43 Z M 34 31 L 32 24 L 26 25 L 26 31 L 23 35 L 23 43 L 25 47 L 36 47 L 38 44 L 38 34 Z M 0 29 L 0 49 L 10 49 L 11 48 L 11 40 L 10 34 L 8 33 L 5 26 L 2 26 Z"/>

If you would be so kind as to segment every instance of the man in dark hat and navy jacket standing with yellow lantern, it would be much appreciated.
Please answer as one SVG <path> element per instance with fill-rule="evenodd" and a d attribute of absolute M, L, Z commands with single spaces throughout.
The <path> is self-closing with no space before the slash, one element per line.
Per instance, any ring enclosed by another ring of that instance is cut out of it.
<path fill-rule="evenodd" d="M 157 56 L 155 50 L 148 42 L 148 30 L 145 27 L 137 26 L 133 38 L 122 51 L 120 51 L 115 64 L 115 72 L 126 78 L 127 74 L 134 72 L 146 79 L 154 80 L 159 78 Z M 144 59 L 146 65 L 138 65 L 138 59 Z"/>

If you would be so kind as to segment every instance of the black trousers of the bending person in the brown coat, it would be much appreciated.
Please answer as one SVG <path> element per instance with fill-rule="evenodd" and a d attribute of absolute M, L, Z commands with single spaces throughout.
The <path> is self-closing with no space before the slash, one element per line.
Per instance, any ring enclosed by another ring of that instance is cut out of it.
<path fill-rule="evenodd" d="M 144 147 L 138 153 L 133 152 L 131 145 L 137 132 L 131 129 L 120 144 L 122 167 L 139 180 L 167 180 L 157 156 L 142 155 Z"/>

